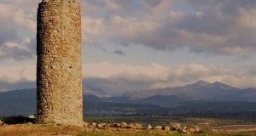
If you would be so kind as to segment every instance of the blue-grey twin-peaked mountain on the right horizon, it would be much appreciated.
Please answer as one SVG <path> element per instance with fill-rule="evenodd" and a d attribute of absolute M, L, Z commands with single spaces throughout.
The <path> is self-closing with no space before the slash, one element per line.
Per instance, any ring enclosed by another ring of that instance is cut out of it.
<path fill-rule="evenodd" d="M 184 87 L 126 92 L 125 99 L 143 101 L 250 101 L 256 102 L 256 88 L 233 88 L 222 82 L 199 81 Z M 174 100 L 175 99 L 175 100 Z M 172 100 L 171 100 L 172 101 Z"/>

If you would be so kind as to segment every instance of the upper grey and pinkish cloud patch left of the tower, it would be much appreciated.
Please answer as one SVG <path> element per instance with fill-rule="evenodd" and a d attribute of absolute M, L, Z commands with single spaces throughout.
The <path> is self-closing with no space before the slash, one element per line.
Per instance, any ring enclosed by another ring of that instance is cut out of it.
<path fill-rule="evenodd" d="M 35 34 L 36 15 L 20 6 L 21 1 L 3 1 L 0 3 L 0 60 L 25 60 L 35 58 L 35 40 L 27 38 L 28 33 Z M 25 2 L 22 1 L 24 5 Z M 22 30 L 22 31 L 20 31 Z M 20 35 L 20 33 L 22 33 Z M 25 36 L 24 36 L 25 35 Z M 29 39 L 29 40 L 27 40 Z M 27 48 L 27 47 L 29 48 Z"/>

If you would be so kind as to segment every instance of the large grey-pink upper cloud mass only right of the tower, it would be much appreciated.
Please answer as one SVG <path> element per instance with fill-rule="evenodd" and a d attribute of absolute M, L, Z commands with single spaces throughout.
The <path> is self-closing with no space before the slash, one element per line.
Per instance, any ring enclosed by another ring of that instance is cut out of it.
<path fill-rule="evenodd" d="M 105 11 L 106 15 L 84 18 L 83 21 L 87 21 L 83 24 L 84 35 L 158 50 L 189 47 L 198 54 L 234 55 L 256 51 L 255 1 L 139 0 L 125 3 L 124 0 L 109 0 L 106 3 L 125 8 L 109 12 L 108 6 L 94 3 L 95 11 Z M 177 10 L 183 4 L 189 8 Z"/>

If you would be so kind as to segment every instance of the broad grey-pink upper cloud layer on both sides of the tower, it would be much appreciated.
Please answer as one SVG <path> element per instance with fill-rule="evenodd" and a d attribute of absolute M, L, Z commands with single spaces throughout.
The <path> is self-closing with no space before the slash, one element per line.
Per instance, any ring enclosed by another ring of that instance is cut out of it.
<path fill-rule="evenodd" d="M 0 3 L 0 12 L 4 13 L 0 14 L 0 45 L 19 43 L 20 38 L 25 38 L 20 28 L 35 34 L 38 3 L 41 0 Z M 157 50 L 189 47 L 196 54 L 236 55 L 256 51 L 253 0 L 84 0 L 81 3 L 83 42 L 87 45 L 108 39 L 115 45 L 132 44 Z"/>

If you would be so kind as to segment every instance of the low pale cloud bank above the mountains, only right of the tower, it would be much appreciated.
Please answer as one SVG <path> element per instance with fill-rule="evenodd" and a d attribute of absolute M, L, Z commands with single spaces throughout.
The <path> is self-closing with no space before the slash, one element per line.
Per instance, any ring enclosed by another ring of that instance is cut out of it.
<path fill-rule="evenodd" d="M 127 90 L 177 87 L 199 80 L 224 82 L 236 88 L 255 88 L 253 82 L 256 78 L 250 76 L 251 71 L 252 68 L 235 71 L 224 67 L 224 65 L 195 63 L 171 67 L 160 64 L 114 65 L 109 62 L 83 65 L 85 84 L 105 89 L 113 94 L 122 94 Z"/>

